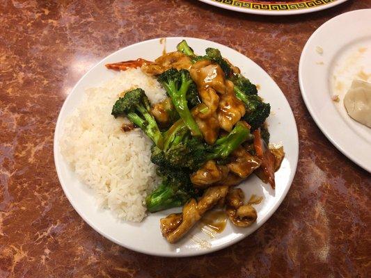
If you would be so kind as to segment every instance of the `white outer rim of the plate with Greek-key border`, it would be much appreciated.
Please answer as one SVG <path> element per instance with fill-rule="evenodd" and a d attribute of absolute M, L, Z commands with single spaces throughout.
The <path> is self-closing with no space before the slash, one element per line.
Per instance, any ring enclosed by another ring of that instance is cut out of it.
<path fill-rule="evenodd" d="M 212 6 L 216 6 L 219 8 L 223 8 L 226 10 L 233 10 L 235 12 L 239 13 L 248 13 L 248 14 L 253 14 L 253 15 L 301 15 L 305 13 L 315 13 L 319 10 L 326 10 L 327 8 L 332 8 L 334 6 L 338 6 L 341 3 L 344 3 L 348 0 L 336 0 L 331 3 L 324 3 L 322 6 L 317 6 L 314 8 L 303 8 L 303 9 L 297 9 L 297 10 L 281 10 L 281 11 L 271 11 L 271 10 L 257 10 L 257 9 L 252 9 L 252 8 L 240 8 L 240 7 L 234 7 L 234 6 L 229 6 L 225 3 L 219 3 L 215 0 L 198 0 L 203 3 L 210 4 Z M 285 4 L 285 3 L 283 3 Z M 288 3 L 286 3 L 288 4 Z"/>

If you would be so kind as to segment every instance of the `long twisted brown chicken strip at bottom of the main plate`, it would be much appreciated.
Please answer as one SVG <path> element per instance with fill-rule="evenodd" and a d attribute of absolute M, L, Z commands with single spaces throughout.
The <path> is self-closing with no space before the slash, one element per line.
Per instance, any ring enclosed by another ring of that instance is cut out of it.
<path fill-rule="evenodd" d="M 208 188 L 198 203 L 195 199 L 189 200 L 183 206 L 182 213 L 171 214 L 161 218 L 161 234 L 169 243 L 176 243 L 200 220 L 201 216 L 224 199 L 228 193 L 228 186 Z"/>

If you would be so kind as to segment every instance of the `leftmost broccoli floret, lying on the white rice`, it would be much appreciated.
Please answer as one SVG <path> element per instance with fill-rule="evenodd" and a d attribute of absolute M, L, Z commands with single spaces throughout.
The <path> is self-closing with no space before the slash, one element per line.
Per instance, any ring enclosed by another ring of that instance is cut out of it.
<path fill-rule="evenodd" d="M 126 92 L 124 97 L 120 97 L 113 105 L 113 116 L 126 116 L 133 124 L 139 126 L 144 133 L 158 147 L 162 147 L 164 140 L 155 118 L 150 113 L 150 101 L 145 92 L 138 88 Z"/>

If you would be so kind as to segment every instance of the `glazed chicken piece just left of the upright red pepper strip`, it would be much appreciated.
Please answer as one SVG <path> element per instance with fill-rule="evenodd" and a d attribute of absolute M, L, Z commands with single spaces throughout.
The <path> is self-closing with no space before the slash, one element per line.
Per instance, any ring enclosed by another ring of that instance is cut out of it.
<path fill-rule="evenodd" d="M 246 179 L 261 164 L 262 160 L 258 156 L 252 156 L 244 147 L 239 147 L 232 153 L 232 162 L 227 165 L 230 172 Z"/>

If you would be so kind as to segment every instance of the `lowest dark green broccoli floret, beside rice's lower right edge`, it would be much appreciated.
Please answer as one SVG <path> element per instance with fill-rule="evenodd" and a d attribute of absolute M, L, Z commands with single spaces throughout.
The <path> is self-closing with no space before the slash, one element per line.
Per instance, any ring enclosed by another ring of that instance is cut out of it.
<path fill-rule="evenodd" d="M 150 212 L 182 206 L 192 197 L 200 195 L 189 179 L 189 172 L 159 167 L 157 174 L 162 177 L 162 181 L 145 199 Z"/>

